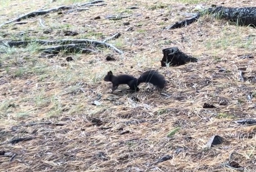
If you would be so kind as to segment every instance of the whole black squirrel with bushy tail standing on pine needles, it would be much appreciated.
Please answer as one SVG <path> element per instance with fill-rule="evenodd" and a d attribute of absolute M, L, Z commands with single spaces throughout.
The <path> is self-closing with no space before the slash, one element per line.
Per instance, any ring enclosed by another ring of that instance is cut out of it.
<path fill-rule="evenodd" d="M 141 74 L 137 79 L 130 75 L 118 75 L 114 76 L 112 71 L 107 72 L 107 75 L 104 77 L 104 81 L 111 82 L 112 92 L 113 93 L 120 84 L 127 84 L 130 87 L 130 91 L 139 91 L 138 85 L 145 82 L 149 82 L 158 88 L 164 88 L 166 81 L 164 76 L 159 74 L 158 71 L 148 70 Z"/>

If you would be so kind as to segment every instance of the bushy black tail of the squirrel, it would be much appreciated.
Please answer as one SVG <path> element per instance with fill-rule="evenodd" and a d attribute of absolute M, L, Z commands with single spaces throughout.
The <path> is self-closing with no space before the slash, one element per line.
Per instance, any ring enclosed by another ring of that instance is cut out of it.
<path fill-rule="evenodd" d="M 144 72 L 138 79 L 137 84 L 139 85 L 140 83 L 143 82 L 149 82 L 153 84 L 154 86 L 158 88 L 164 88 L 166 81 L 164 79 L 164 76 L 159 74 L 158 71 L 155 70 L 149 70 Z"/>

